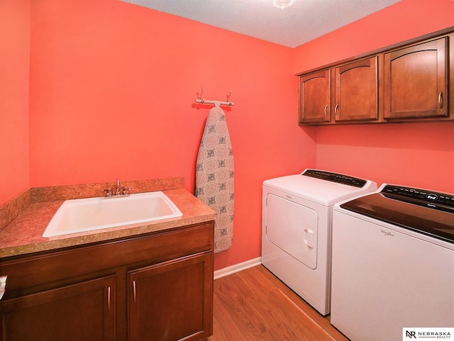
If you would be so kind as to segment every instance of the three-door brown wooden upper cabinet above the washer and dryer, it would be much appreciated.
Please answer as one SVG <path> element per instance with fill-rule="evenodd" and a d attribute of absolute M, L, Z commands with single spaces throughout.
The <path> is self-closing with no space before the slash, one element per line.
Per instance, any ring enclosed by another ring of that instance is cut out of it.
<path fill-rule="evenodd" d="M 446 28 L 299 75 L 299 124 L 454 121 L 453 41 Z"/>

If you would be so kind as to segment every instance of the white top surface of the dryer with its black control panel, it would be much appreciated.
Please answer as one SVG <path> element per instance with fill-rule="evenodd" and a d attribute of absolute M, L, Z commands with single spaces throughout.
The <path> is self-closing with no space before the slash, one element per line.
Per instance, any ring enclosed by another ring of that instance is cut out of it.
<path fill-rule="evenodd" d="M 315 172 L 325 175 L 314 177 Z M 355 179 L 355 185 L 341 183 L 339 181 L 341 177 Z M 336 181 L 333 179 L 336 179 Z M 359 181 L 364 181 L 362 187 L 358 187 Z M 316 169 L 306 169 L 301 174 L 265 180 L 263 186 L 278 189 L 287 194 L 293 194 L 294 196 L 320 203 L 323 206 L 333 206 L 338 201 L 367 194 L 377 189 L 377 184 L 370 180 L 362 180 L 345 174 L 319 171 Z"/>

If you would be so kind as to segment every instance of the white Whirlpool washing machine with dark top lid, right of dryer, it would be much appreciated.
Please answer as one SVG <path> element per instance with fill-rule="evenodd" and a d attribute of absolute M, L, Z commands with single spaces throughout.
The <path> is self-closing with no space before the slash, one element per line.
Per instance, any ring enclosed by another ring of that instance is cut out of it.
<path fill-rule="evenodd" d="M 350 340 L 452 337 L 454 194 L 383 184 L 337 203 L 332 245 L 331 323 Z"/>

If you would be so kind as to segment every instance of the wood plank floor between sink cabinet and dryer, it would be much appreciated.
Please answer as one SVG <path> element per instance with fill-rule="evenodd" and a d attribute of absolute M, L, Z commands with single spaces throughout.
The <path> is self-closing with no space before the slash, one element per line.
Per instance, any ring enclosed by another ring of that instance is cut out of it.
<path fill-rule="evenodd" d="M 214 281 L 209 341 L 348 341 L 314 308 L 259 265 Z"/>

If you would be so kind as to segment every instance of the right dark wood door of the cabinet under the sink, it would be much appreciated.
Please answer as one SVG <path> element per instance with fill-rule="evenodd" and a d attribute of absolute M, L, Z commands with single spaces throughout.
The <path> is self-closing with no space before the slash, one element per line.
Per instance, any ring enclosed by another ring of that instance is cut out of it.
<path fill-rule="evenodd" d="M 195 341 L 213 330 L 213 253 L 128 272 L 128 340 Z"/>

